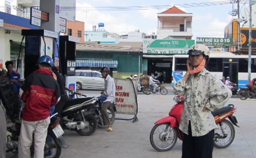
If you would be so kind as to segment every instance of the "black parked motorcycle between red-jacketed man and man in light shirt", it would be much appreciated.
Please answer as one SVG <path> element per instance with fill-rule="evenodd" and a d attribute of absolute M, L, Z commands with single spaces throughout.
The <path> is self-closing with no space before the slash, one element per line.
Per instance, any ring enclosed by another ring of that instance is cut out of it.
<path fill-rule="evenodd" d="M 75 98 L 73 90 L 69 91 L 69 101 L 63 105 L 62 127 L 65 130 L 76 131 L 79 135 L 92 135 L 97 129 L 97 119 L 86 109 L 95 103 L 90 98 Z"/>

